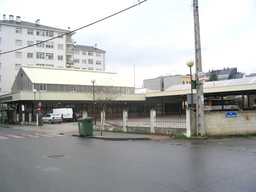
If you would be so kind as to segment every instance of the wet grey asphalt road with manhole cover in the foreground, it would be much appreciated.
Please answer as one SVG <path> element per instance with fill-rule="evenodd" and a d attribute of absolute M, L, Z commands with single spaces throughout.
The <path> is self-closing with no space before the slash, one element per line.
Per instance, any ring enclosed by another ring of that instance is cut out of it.
<path fill-rule="evenodd" d="M 38 132 L 0 128 L 0 135 Z M 65 154 L 62 158 L 46 158 Z M 1 192 L 254 192 L 256 140 L 0 139 Z"/>

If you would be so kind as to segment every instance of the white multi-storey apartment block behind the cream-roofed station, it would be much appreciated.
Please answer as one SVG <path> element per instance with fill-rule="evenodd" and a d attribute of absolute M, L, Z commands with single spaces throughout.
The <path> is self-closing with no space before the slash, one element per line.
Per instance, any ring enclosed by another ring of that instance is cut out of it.
<path fill-rule="evenodd" d="M 0 53 L 16 50 L 61 36 L 69 30 L 24 22 L 17 16 L 0 20 Z M 75 32 L 35 46 L 0 55 L 0 94 L 11 92 L 21 65 L 105 70 L 105 51 L 96 46 L 80 46 L 72 39 Z M 74 49 L 76 47 L 76 49 Z M 79 54 L 78 54 L 79 53 Z M 40 74 L 38 74 L 40 75 Z M 51 78 L 51 77 L 49 77 Z"/>

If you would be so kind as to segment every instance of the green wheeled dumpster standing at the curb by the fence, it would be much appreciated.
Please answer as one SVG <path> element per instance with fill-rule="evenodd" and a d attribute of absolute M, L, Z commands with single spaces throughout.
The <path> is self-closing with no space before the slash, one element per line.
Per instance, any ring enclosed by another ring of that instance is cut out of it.
<path fill-rule="evenodd" d="M 93 118 L 83 117 L 78 118 L 78 129 L 80 135 L 92 135 Z"/>

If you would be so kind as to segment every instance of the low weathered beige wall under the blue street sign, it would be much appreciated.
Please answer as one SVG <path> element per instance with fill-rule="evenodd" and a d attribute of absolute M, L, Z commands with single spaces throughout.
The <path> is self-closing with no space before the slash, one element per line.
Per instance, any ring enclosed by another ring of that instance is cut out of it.
<path fill-rule="evenodd" d="M 207 136 L 256 134 L 256 111 L 238 111 L 237 117 L 226 118 L 225 112 L 204 114 Z"/>

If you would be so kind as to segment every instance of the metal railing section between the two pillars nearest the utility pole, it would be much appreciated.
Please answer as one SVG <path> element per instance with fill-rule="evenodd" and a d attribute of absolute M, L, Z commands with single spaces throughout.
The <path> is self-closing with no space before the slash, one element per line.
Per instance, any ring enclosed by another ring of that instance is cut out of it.
<path fill-rule="evenodd" d="M 174 112 L 165 116 L 156 116 L 156 127 L 186 128 L 186 114 Z"/>

